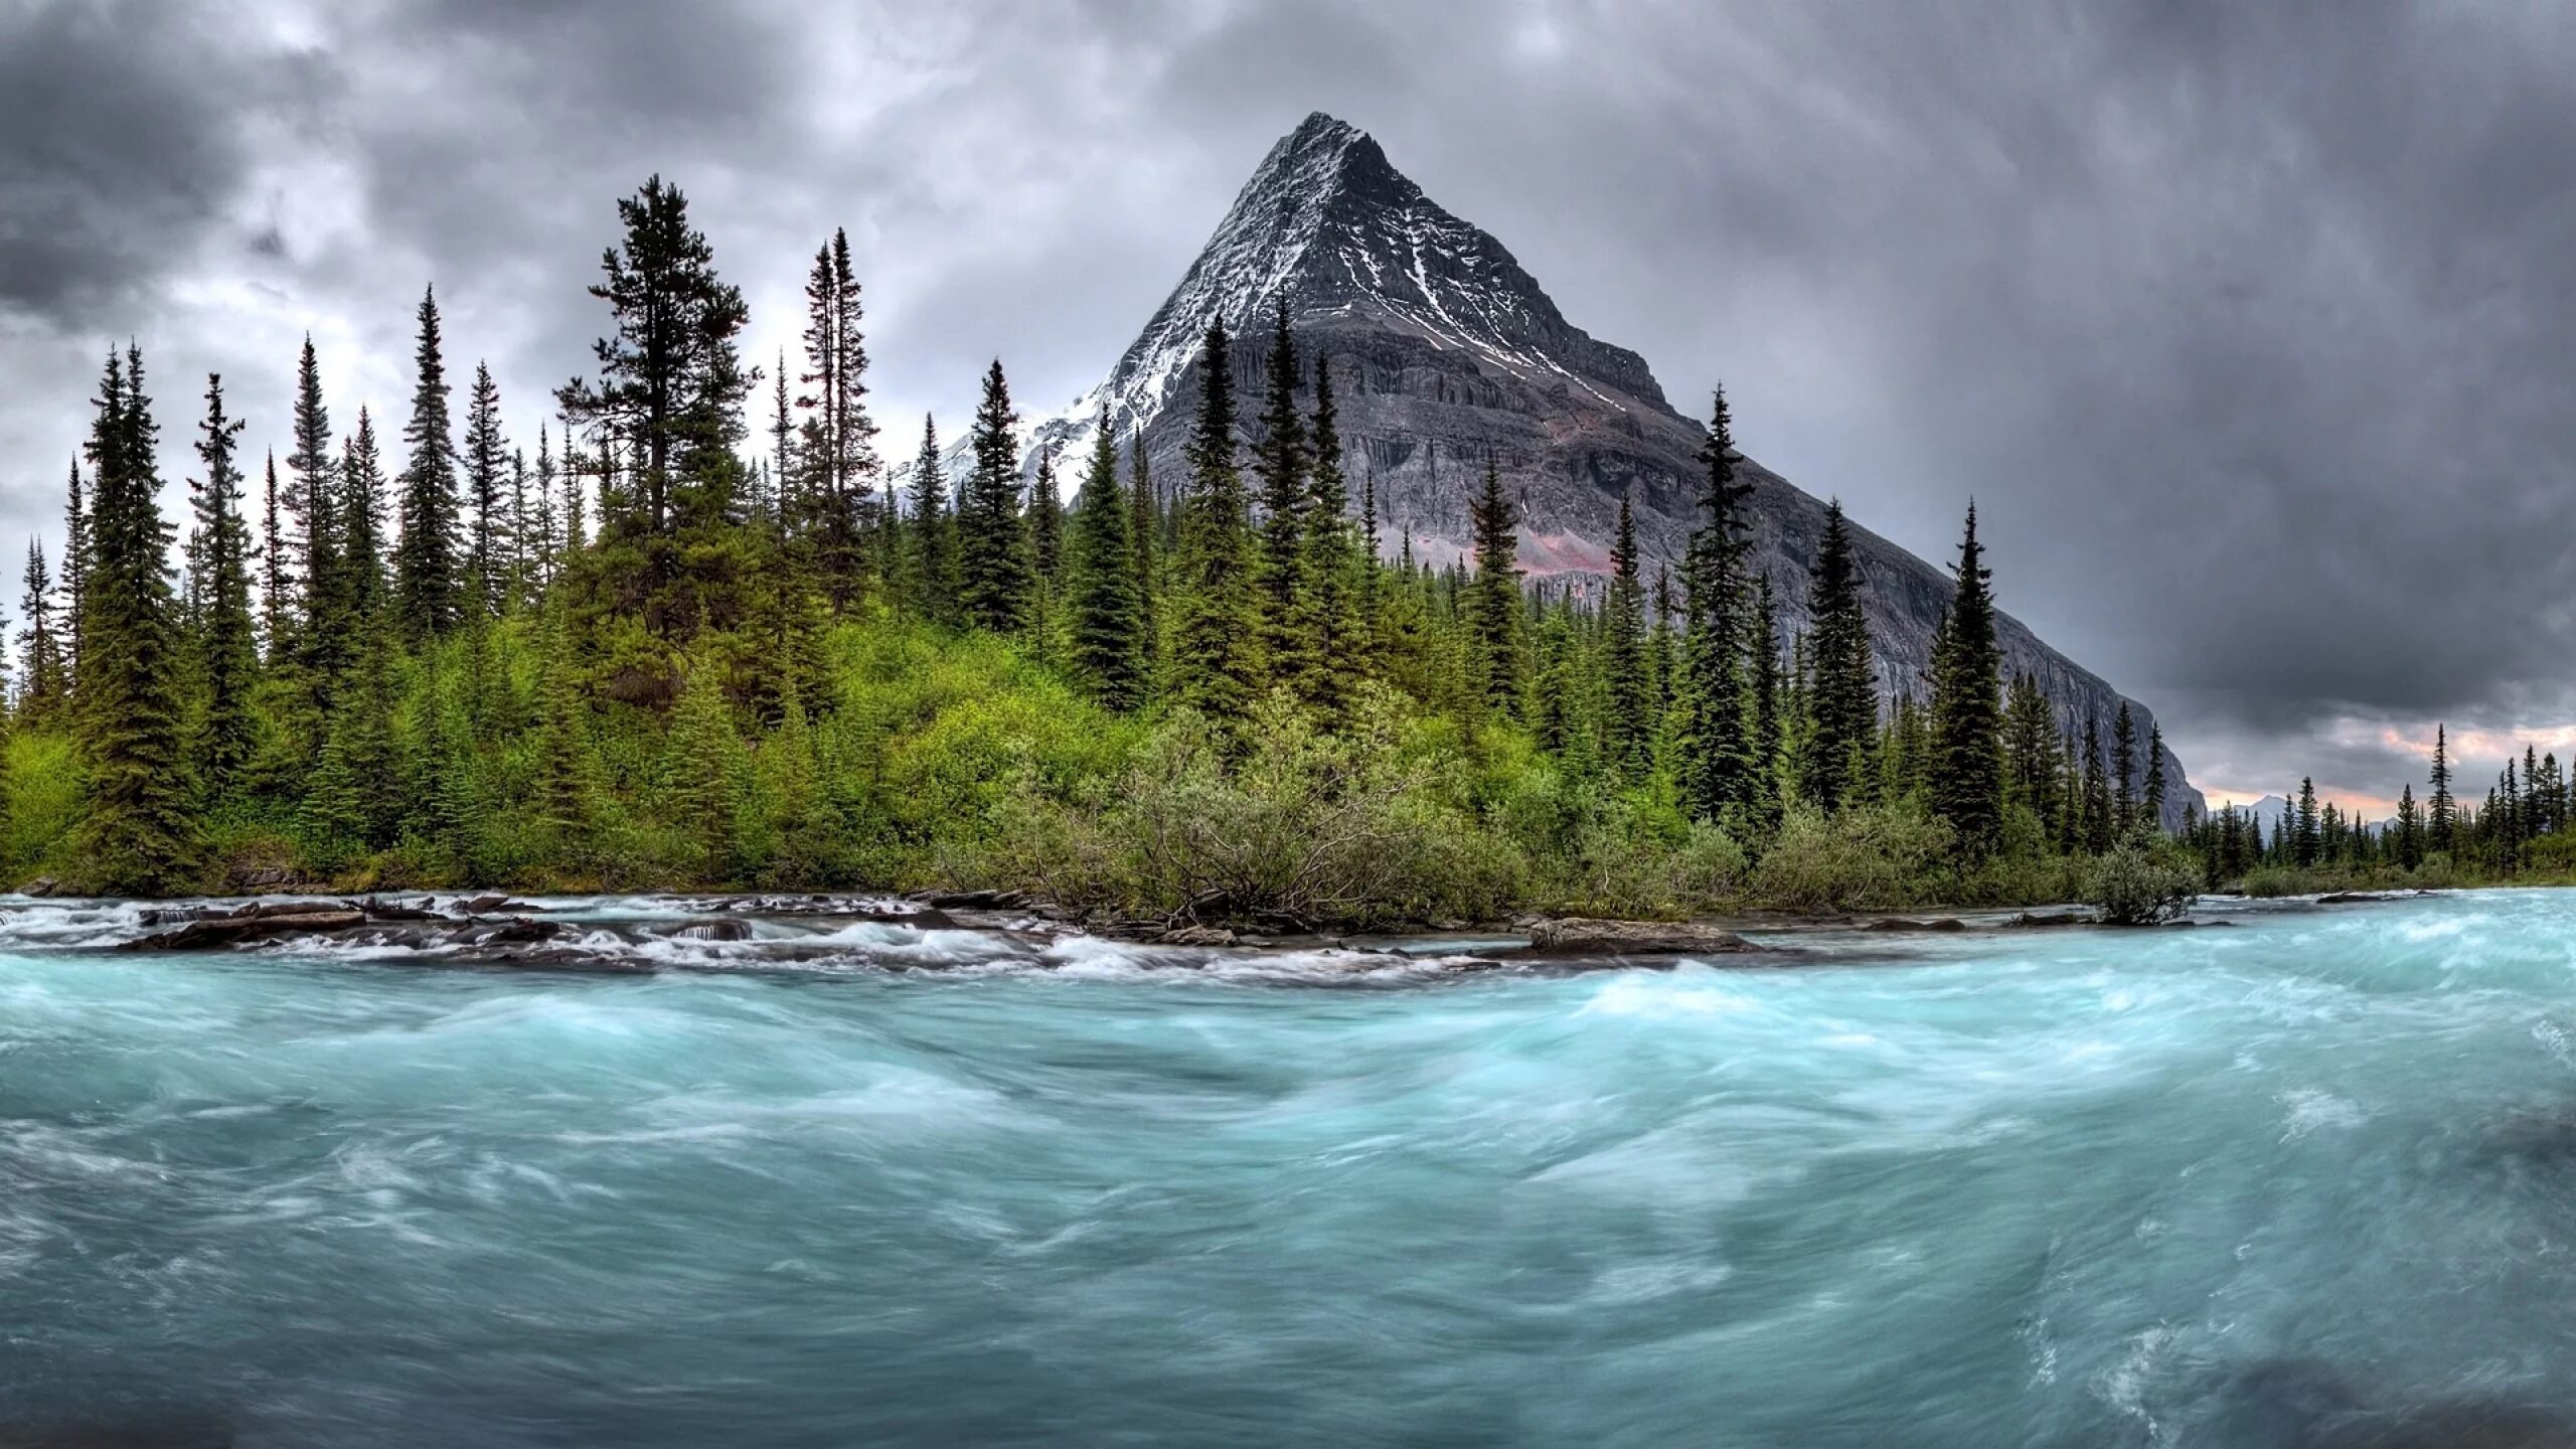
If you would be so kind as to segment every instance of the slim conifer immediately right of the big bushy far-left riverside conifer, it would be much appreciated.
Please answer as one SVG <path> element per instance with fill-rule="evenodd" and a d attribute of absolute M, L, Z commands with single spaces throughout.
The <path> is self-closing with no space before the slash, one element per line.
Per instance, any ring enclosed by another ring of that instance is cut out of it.
<path fill-rule="evenodd" d="M 250 763 L 255 722 L 250 691 L 260 670 L 258 629 L 250 619 L 250 523 L 242 518 L 242 469 L 232 454 L 242 420 L 224 415 L 224 379 L 206 374 L 206 420 L 196 456 L 204 477 L 191 480 L 196 529 L 204 539 L 204 619 L 196 634 L 201 694 L 196 766 L 209 799 L 227 799 Z"/>

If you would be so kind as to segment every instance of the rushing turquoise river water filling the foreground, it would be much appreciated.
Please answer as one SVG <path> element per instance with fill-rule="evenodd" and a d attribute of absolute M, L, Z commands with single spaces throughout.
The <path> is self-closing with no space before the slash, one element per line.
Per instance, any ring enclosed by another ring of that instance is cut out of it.
<path fill-rule="evenodd" d="M 21 902 L 0 1444 L 2566 1441 L 2576 895 L 2205 918 L 598 977 Z"/>

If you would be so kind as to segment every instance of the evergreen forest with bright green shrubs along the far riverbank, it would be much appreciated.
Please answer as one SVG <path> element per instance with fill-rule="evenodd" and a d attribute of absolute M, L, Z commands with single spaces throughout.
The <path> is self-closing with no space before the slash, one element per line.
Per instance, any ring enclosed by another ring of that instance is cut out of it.
<path fill-rule="evenodd" d="M 1206 335 L 1185 477 L 1103 418 L 1074 477 L 1023 482 L 994 361 L 951 487 L 927 420 L 886 464 L 845 235 L 814 253 L 801 358 L 760 369 L 680 188 L 647 180 L 616 222 L 605 333 L 533 446 L 489 369 L 451 382 L 425 291 L 399 425 L 335 418 L 307 340 L 286 454 L 250 459 L 204 379 L 173 521 L 144 353 L 108 353 L 59 554 L 26 557 L 13 879 L 994 887 L 1105 923 L 1363 928 L 2154 920 L 2200 890 L 2576 866 L 2555 758 L 2470 807 L 2445 748 L 2393 822 L 2303 786 L 2269 835 L 2239 810 L 2161 830 L 2154 730 L 2002 676 L 1973 505 L 1935 668 L 1880 699 L 1839 505 L 1811 629 L 1783 637 L 1747 567 L 1723 392 L 1687 557 L 1649 578 L 1623 503 L 1613 575 L 1574 590 L 1522 578 L 1492 467 L 1466 562 L 1381 536 L 1285 304 Z"/>

